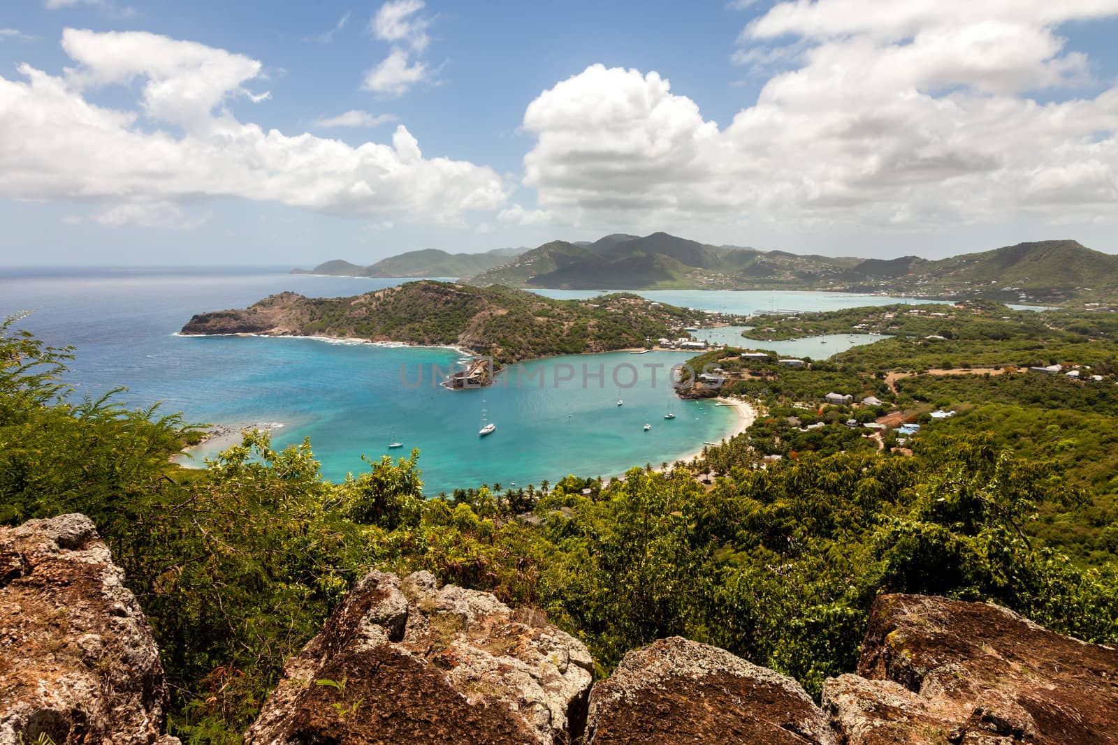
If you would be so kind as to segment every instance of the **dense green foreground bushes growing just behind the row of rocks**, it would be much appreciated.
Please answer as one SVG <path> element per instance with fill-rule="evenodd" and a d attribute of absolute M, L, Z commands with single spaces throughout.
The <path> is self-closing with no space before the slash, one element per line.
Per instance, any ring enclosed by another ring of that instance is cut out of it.
<path fill-rule="evenodd" d="M 633 469 L 608 486 L 568 476 L 424 499 L 415 451 L 330 484 L 309 443 L 276 452 L 259 432 L 181 470 L 167 458 L 196 428 L 111 399 L 69 403 L 66 359 L 3 326 L 3 519 L 93 517 L 152 620 L 189 743 L 239 742 L 284 659 L 373 566 L 542 608 L 603 674 L 679 633 L 817 693 L 853 668 L 869 605 L 890 591 L 992 599 L 1118 641 L 1112 553 L 1084 569 L 1026 529 L 1038 505 L 1078 515 L 1081 494 L 1046 453 L 1003 450 L 1001 434 L 945 430 L 912 457 L 805 448 L 764 470 L 738 438 L 709 453 L 726 474 L 710 488 L 684 469 Z"/>

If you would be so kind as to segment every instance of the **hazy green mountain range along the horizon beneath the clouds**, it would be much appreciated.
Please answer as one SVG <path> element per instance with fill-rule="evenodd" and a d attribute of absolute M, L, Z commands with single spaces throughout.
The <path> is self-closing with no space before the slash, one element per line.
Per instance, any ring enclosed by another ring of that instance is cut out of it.
<path fill-rule="evenodd" d="M 531 250 L 410 251 L 359 267 L 328 261 L 315 274 L 463 277 L 475 285 L 567 289 L 805 289 L 1060 303 L 1118 290 L 1118 256 L 1074 240 L 1043 240 L 929 260 L 859 259 L 711 246 L 666 232 L 555 240 Z"/>

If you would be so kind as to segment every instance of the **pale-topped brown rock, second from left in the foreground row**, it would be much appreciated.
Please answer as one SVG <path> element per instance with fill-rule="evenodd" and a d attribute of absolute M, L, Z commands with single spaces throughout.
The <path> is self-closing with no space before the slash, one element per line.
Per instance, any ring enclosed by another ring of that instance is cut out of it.
<path fill-rule="evenodd" d="M 568 743 L 593 665 L 490 593 L 372 572 L 288 661 L 246 742 Z"/>

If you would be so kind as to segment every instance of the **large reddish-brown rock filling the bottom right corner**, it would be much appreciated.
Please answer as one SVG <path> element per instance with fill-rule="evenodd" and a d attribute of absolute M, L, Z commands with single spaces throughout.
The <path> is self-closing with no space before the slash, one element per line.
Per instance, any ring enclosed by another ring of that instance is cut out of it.
<path fill-rule="evenodd" d="M 823 706 L 850 745 L 1118 743 L 1118 651 L 996 605 L 883 595 Z"/>

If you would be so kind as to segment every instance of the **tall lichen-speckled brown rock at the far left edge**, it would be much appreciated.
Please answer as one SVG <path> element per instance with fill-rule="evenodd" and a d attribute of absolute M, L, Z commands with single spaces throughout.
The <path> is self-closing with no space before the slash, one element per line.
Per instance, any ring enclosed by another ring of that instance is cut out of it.
<path fill-rule="evenodd" d="M 0 745 L 170 745 L 151 627 L 89 518 L 0 528 Z"/>

